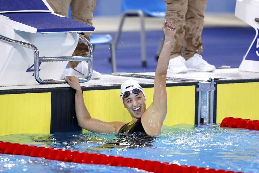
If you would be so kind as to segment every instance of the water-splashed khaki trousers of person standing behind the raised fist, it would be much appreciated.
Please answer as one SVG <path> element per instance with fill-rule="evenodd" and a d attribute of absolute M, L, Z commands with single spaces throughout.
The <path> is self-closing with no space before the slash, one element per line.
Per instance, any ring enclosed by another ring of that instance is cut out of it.
<path fill-rule="evenodd" d="M 164 0 L 166 20 L 177 25 L 170 58 L 183 56 L 185 60 L 202 52 L 202 30 L 207 0 Z"/>

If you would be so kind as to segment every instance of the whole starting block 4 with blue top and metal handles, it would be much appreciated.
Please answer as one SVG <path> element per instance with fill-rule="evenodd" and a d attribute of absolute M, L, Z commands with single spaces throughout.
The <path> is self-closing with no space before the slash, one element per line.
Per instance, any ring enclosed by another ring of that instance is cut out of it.
<path fill-rule="evenodd" d="M 55 14 L 45 0 L 1 0 L 0 28 L 0 86 L 65 83 L 67 61 L 88 61 L 80 82 L 92 76 L 93 46 L 79 33 L 95 28 Z M 72 56 L 78 40 L 89 56 Z"/>

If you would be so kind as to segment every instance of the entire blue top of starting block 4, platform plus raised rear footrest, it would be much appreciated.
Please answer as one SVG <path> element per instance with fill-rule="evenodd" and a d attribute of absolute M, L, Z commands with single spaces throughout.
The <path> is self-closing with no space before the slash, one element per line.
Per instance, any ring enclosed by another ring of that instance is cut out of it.
<path fill-rule="evenodd" d="M 27 26 L 29 26 L 28 32 L 33 33 L 95 30 L 93 26 L 67 17 L 60 17 L 53 12 L 45 0 L 0 0 L 0 21 L 13 26 L 16 30 L 22 27 L 23 31 L 27 31 L 24 29 Z M 34 29 L 29 31 L 29 28 Z"/>

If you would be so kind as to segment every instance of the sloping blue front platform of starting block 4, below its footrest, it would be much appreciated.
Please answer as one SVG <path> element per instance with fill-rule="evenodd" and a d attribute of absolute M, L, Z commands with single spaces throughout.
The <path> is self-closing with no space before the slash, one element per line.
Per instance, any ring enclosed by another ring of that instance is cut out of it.
<path fill-rule="evenodd" d="M 37 33 L 94 31 L 93 26 L 49 12 L 1 13 L 10 20 L 37 28 Z"/>

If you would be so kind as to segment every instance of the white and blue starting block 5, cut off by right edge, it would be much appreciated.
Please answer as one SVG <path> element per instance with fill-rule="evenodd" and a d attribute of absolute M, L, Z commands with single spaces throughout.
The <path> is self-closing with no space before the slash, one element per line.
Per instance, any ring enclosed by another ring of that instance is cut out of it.
<path fill-rule="evenodd" d="M 259 0 L 237 0 L 235 16 L 252 26 L 256 33 L 238 69 L 259 73 Z"/>

